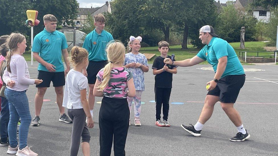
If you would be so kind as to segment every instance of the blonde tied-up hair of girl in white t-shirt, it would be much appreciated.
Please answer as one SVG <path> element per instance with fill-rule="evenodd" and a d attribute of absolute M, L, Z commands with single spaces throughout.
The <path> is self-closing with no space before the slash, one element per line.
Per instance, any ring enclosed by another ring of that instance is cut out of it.
<path fill-rule="evenodd" d="M 71 56 L 68 57 L 69 64 L 75 67 L 82 63 L 84 59 L 88 59 L 87 50 L 81 47 L 74 46 L 71 49 Z"/>

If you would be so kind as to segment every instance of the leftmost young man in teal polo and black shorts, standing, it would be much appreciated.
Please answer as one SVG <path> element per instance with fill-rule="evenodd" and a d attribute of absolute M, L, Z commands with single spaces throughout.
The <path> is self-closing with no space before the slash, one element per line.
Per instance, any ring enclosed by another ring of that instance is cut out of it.
<path fill-rule="evenodd" d="M 43 97 L 46 89 L 50 87 L 52 81 L 56 92 L 56 101 L 60 111 L 59 121 L 71 123 L 71 119 L 66 115 L 63 104 L 63 86 L 65 85 L 65 76 L 70 70 L 68 63 L 68 44 L 65 35 L 56 30 L 57 18 L 52 14 L 46 14 L 43 17 L 44 30 L 38 33 L 34 38 L 32 51 L 34 58 L 39 62 L 38 79 L 43 82 L 36 85 L 38 88 L 35 96 L 35 117 L 32 120 L 32 126 L 40 125 L 40 111 L 42 109 Z M 64 70 L 62 55 L 67 66 Z"/>

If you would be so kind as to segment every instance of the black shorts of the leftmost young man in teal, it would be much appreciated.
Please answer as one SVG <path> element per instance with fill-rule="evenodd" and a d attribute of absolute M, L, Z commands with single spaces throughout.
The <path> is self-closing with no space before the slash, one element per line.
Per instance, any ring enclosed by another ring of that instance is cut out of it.
<path fill-rule="evenodd" d="M 36 87 L 50 87 L 52 81 L 53 87 L 65 86 L 65 72 L 46 72 L 38 70 L 38 79 L 42 79 L 42 83 Z"/>

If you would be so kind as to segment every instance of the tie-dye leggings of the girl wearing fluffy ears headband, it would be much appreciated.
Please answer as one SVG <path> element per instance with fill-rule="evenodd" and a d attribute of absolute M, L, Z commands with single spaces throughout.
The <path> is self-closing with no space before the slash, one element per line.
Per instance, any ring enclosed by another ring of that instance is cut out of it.
<path fill-rule="evenodd" d="M 140 117 L 140 114 L 141 114 L 141 95 L 142 95 L 142 92 L 143 92 L 142 90 L 136 90 L 135 97 L 127 97 L 127 102 L 128 102 L 128 107 L 129 107 L 130 112 L 131 112 L 132 100 L 134 100 L 134 116 L 138 117 L 138 118 Z"/>

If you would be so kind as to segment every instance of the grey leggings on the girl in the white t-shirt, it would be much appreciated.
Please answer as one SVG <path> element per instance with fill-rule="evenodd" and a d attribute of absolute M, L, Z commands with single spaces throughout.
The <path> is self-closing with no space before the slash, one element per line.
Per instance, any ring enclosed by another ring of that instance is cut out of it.
<path fill-rule="evenodd" d="M 71 133 L 70 156 L 78 154 L 80 137 L 82 142 L 90 142 L 90 132 L 86 124 L 86 114 L 83 109 L 68 109 L 68 115 L 73 121 Z"/>

